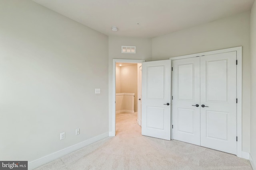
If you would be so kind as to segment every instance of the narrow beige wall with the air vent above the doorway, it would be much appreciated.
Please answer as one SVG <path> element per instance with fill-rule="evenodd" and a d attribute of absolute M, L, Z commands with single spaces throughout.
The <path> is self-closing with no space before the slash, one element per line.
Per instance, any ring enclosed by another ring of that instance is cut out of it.
<path fill-rule="evenodd" d="M 121 46 L 136 46 L 136 54 L 121 53 Z M 151 61 L 151 38 L 134 38 L 134 37 L 108 37 L 108 102 L 109 102 L 109 129 L 110 134 L 113 125 L 113 59 L 132 59 Z"/>

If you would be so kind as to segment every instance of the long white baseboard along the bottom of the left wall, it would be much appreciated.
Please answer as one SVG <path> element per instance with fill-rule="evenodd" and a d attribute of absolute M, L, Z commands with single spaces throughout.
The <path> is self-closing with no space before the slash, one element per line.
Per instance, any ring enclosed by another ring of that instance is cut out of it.
<path fill-rule="evenodd" d="M 61 156 L 64 156 L 66 154 L 69 154 L 71 152 L 74 152 L 78 149 L 81 149 L 82 147 L 86 147 L 87 145 L 90 145 L 94 142 L 100 141 L 101 139 L 104 139 L 106 137 L 108 137 L 109 133 L 102 133 L 101 135 L 98 135 L 96 137 L 93 137 L 91 139 L 87 139 L 86 141 L 82 141 L 76 145 L 72 145 L 70 147 L 67 147 L 65 149 L 62 150 L 58 150 L 57 152 L 54 152 L 52 154 L 46 155 L 42 158 L 33 160 L 31 162 L 28 162 L 28 169 L 32 170 L 34 168 L 37 168 L 38 166 L 41 166 L 43 164 L 46 164 L 48 162 L 51 162 L 52 160 L 55 160 L 57 158 L 60 158 Z"/>

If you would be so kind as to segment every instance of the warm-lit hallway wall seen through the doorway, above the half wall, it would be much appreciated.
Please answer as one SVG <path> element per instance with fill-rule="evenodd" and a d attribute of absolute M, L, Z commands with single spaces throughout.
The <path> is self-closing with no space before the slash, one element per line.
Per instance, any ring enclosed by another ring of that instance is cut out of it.
<path fill-rule="evenodd" d="M 137 78 L 137 64 L 128 66 L 116 66 L 116 70 L 120 71 L 120 79 L 116 78 L 116 84 L 120 84 L 120 93 L 134 93 L 134 111 L 138 111 L 138 78 Z M 116 71 L 116 77 L 118 72 Z M 116 88 L 117 91 L 117 88 Z M 116 92 L 118 93 L 118 92 Z"/>

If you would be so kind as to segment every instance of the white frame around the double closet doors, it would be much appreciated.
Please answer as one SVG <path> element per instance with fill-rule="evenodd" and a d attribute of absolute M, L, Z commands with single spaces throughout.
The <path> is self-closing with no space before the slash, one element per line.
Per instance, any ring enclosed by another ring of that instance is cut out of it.
<path fill-rule="evenodd" d="M 178 60 L 178 59 L 188 59 L 192 57 L 200 57 L 204 55 L 213 55 L 218 53 L 228 53 L 236 51 L 236 59 L 238 61 L 237 67 L 236 67 L 236 97 L 238 100 L 238 103 L 236 105 L 236 134 L 237 134 L 237 143 L 236 143 L 236 156 L 240 158 L 246 158 L 242 154 L 242 47 L 233 47 L 228 49 L 221 49 L 221 50 L 215 50 L 215 51 L 208 51 L 203 53 L 196 53 L 191 55 L 183 55 L 178 57 L 171 57 L 170 60 Z M 173 83 L 173 81 L 172 81 Z M 173 93 L 172 93 L 173 94 Z M 172 120 L 172 111 L 173 107 L 171 108 L 171 125 L 173 125 Z M 173 139 L 173 129 L 171 129 L 171 139 Z"/>

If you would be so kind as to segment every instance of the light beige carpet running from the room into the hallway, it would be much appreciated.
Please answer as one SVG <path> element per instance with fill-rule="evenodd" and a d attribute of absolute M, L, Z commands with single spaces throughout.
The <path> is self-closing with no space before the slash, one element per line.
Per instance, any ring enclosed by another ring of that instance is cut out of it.
<path fill-rule="evenodd" d="M 136 113 L 116 114 L 116 137 L 108 137 L 36 170 L 252 170 L 235 155 L 141 135 Z"/>

